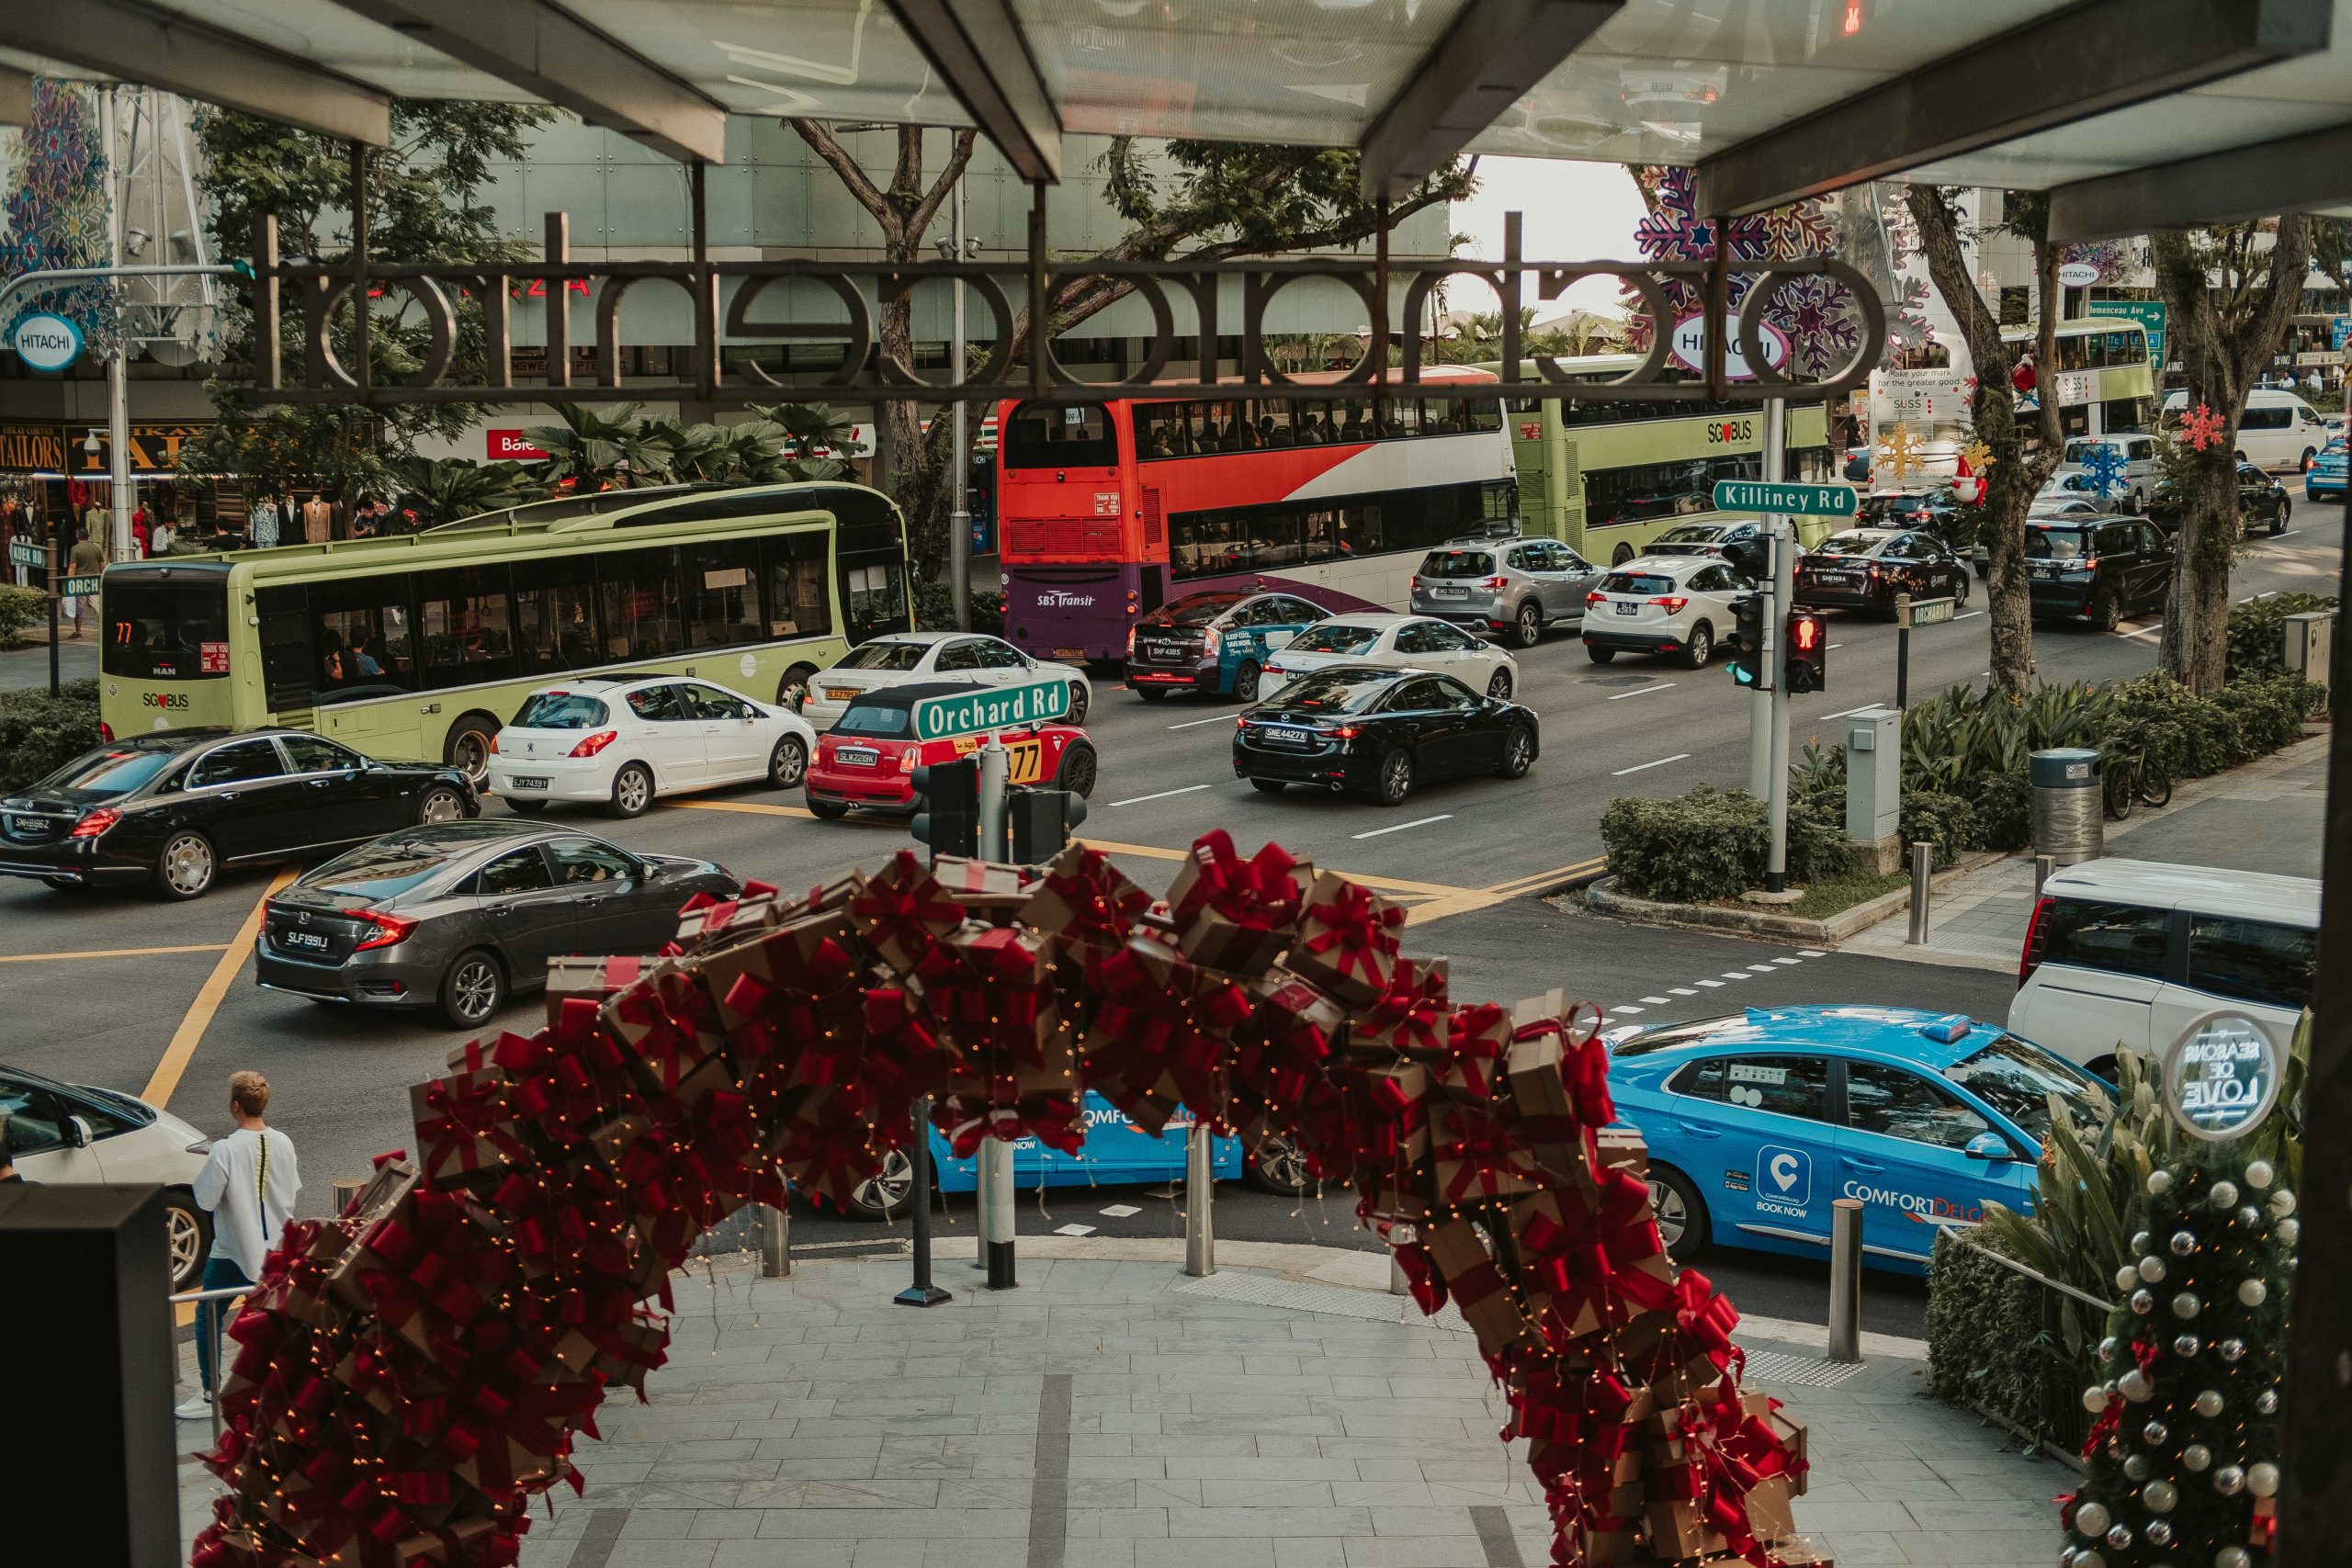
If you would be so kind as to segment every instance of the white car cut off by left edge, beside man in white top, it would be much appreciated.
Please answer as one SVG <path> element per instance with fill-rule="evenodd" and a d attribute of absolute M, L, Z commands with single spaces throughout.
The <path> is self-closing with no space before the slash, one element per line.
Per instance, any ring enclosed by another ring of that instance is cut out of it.
<path fill-rule="evenodd" d="M 212 1215 L 195 1206 L 207 1133 L 113 1088 L 0 1067 L 0 1135 L 28 1182 L 162 1187 L 172 1288 L 195 1288 L 212 1248 Z"/>

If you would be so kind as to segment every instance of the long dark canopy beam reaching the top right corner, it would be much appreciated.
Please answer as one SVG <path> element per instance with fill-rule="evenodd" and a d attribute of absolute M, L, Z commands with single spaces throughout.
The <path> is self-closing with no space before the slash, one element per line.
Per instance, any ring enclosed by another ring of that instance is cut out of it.
<path fill-rule="evenodd" d="M 1740 216 L 2328 47 L 2331 0 L 2086 0 L 1698 165 Z"/>

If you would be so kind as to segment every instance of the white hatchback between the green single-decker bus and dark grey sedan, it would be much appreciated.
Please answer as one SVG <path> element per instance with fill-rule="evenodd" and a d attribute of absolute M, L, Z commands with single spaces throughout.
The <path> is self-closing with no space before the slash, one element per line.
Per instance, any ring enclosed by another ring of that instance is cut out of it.
<path fill-rule="evenodd" d="M 710 785 L 797 790 L 816 731 L 786 708 L 654 675 L 541 686 L 489 748 L 489 790 L 515 811 L 562 799 L 640 816 L 656 795 Z"/>

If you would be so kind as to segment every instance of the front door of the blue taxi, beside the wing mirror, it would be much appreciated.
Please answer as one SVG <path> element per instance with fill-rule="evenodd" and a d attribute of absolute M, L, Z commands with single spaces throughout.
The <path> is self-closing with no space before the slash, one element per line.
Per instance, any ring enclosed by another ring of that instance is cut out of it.
<path fill-rule="evenodd" d="M 1865 1258 L 1919 1269 L 1936 1232 L 1985 1218 L 1985 1199 L 2018 1206 L 2032 1161 L 1978 1159 L 1969 1145 L 2006 1133 L 1931 1074 L 1893 1063 L 1846 1063 L 1846 1126 L 1837 1133 L 1837 1192 L 1860 1199 Z"/>

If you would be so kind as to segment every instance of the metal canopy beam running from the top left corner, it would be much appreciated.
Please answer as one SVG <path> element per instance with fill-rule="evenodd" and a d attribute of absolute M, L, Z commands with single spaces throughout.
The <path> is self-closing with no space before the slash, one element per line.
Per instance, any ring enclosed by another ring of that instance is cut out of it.
<path fill-rule="evenodd" d="M 339 141 L 393 139 L 390 94 L 136 0 L 0 5 L 0 45 Z"/>

